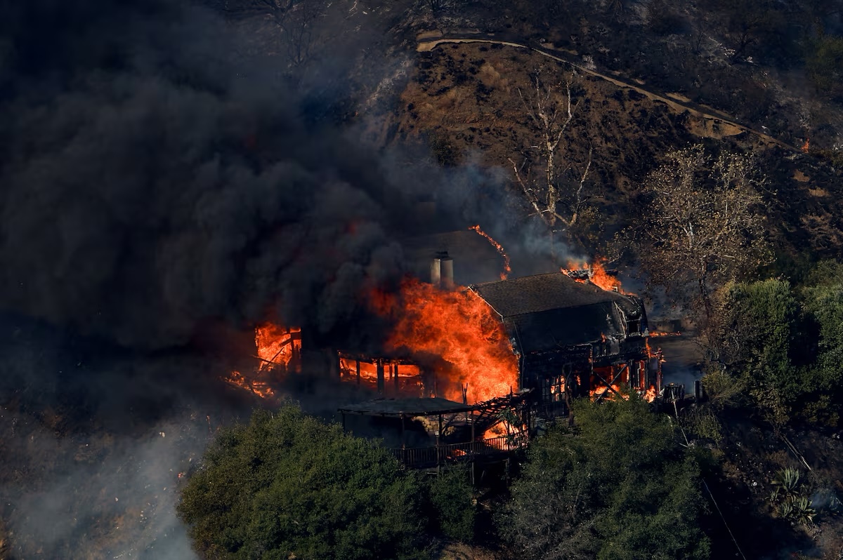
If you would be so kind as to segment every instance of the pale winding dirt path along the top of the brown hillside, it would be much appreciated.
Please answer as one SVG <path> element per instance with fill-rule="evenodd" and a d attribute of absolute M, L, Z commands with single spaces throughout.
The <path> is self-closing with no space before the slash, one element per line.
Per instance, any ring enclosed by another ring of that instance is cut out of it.
<path fill-rule="evenodd" d="M 781 141 L 778 138 L 774 138 L 773 136 L 765 134 L 764 132 L 756 131 L 751 126 L 738 122 L 738 120 L 735 120 L 734 117 L 726 115 L 725 113 L 721 113 L 720 111 L 717 111 L 717 109 L 705 107 L 701 104 L 695 104 L 693 101 L 690 101 L 688 99 L 679 99 L 678 97 L 673 97 L 670 93 L 658 93 L 652 91 L 652 89 L 643 87 L 642 84 L 625 82 L 619 79 L 618 77 L 611 77 L 605 74 L 601 74 L 600 72 L 596 72 L 592 69 L 589 69 L 588 67 L 583 66 L 580 61 L 576 61 L 570 54 L 566 53 L 565 51 L 554 51 L 550 49 L 545 49 L 544 47 L 522 45 L 513 41 L 478 37 L 477 35 L 444 36 L 440 35 L 438 32 L 421 34 L 416 38 L 416 40 L 418 41 L 418 44 L 416 45 L 416 51 L 418 52 L 430 52 L 435 49 L 438 45 L 442 45 L 443 43 L 487 43 L 491 45 L 504 45 L 511 46 L 516 49 L 533 51 L 539 53 L 541 56 L 547 56 L 550 59 L 562 62 L 563 64 L 576 68 L 579 72 L 583 72 L 584 74 L 588 74 L 590 76 L 599 77 L 602 80 L 605 80 L 609 83 L 613 83 L 619 88 L 632 89 L 637 93 L 646 95 L 647 98 L 652 99 L 653 101 L 658 101 L 667 104 L 668 107 L 674 109 L 674 111 L 678 113 L 688 111 L 690 115 L 694 115 L 695 117 L 719 121 L 720 123 L 732 126 L 738 129 L 739 131 L 749 132 L 749 134 L 757 136 L 763 141 L 775 144 L 778 147 L 783 147 L 793 152 L 801 152 L 800 148 L 792 146 L 791 144 L 788 144 L 785 141 Z"/>

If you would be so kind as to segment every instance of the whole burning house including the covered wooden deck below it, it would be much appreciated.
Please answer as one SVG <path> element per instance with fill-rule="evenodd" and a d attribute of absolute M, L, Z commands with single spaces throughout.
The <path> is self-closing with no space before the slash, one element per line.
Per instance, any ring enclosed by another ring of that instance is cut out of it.
<path fill-rule="evenodd" d="M 533 419 L 566 416 L 574 397 L 652 400 L 661 390 L 643 302 L 600 264 L 463 287 L 454 259 L 433 254 L 431 281 L 368 295 L 391 328 L 378 351 L 310 350 L 361 396 L 379 395 L 338 412 L 344 425 L 389 440 L 405 465 L 505 461 Z M 264 326 L 255 343 L 255 376 L 229 381 L 268 396 L 262 380 L 301 369 L 302 333 Z"/>

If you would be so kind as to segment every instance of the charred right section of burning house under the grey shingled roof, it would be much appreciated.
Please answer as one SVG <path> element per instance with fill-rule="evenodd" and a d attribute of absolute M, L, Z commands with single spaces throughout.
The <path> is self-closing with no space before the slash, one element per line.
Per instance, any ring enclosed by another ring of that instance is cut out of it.
<path fill-rule="evenodd" d="M 652 400 L 661 388 L 642 300 L 605 290 L 594 274 L 563 270 L 470 286 L 509 333 L 518 387 L 533 390 L 542 416 L 566 415 L 572 397 L 620 396 L 626 387 Z"/>

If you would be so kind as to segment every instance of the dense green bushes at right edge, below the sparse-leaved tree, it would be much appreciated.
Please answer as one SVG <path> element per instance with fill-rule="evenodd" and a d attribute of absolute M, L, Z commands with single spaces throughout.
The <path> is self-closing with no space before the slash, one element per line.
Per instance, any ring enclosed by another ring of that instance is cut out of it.
<path fill-rule="evenodd" d="M 728 285 L 721 303 L 722 364 L 766 418 L 838 424 L 843 266 L 820 263 L 796 288 L 779 279 Z"/>

